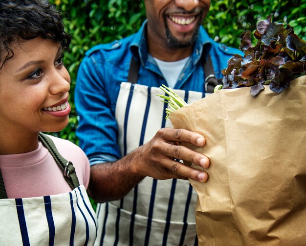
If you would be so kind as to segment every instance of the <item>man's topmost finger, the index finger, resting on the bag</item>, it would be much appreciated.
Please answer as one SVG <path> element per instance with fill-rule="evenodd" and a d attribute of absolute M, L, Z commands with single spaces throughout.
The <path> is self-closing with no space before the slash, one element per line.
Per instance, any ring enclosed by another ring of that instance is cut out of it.
<path fill-rule="evenodd" d="M 205 138 L 201 134 L 186 129 L 162 128 L 157 132 L 157 135 L 159 134 L 171 142 L 190 143 L 199 147 L 205 145 Z"/>

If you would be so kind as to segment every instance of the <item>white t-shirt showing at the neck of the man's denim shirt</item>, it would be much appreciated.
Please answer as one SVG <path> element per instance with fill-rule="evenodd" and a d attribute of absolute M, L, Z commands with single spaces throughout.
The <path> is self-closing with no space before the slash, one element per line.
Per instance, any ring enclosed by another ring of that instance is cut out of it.
<path fill-rule="evenodd" d="M 178 79 L 178 76 L 182 72 L 186 62 L 189 59 L 189 56 L 182 60 L 174 61 L 174 62 L 165 62 L 155 57 L 153 58 L 155 62 L 157 63 L 161 73 L 164 75 L 164 78 L 166 79 L 168 86 L 170 88 L 174 88 L 176 81 Z"/>

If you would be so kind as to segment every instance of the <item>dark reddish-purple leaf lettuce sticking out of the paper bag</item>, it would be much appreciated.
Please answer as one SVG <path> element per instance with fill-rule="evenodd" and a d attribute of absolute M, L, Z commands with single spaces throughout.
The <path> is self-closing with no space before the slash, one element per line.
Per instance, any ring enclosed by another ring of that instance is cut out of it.
<path fill-rule="evenodd" d="M 290 86 L 290 81 L 306 74 L 306 42 L 294 34 L 290 25 L 271 22 L 271 15 L 257 24 L 254 33 L 259 42 L 253 46 L 251 31 L 240 35 L 244 57 L 232 56 L 227 68 L 222 70 L 223 89 L 251 86 L 256 97 L 269 85 L 280 93 Z"/>

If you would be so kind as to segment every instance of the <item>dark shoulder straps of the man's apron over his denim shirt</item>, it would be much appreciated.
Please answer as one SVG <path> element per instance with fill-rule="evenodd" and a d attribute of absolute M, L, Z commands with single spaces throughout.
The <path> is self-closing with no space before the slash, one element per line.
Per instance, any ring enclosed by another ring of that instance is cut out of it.
<path fill-rule="evenodd" d="M 206 93 L 213 93 L 214 89 L 217 85 L 222 84 L 222 79 L 217 79 L 214 72 L 214 67 L 212 63 L 212 59 L 210 55 L 208 55 L 207 59 L 202 59 L 203 70 L 205 74 L 205 81 L 204 81 L 204 89 Z M 140 68 L 140 61 L 139 59 L 135 61 L 133 56 L 131 57 L 129 75 L 128 75 L 128 82 L 130 83 L 137 83 L 138 73 Z"/>

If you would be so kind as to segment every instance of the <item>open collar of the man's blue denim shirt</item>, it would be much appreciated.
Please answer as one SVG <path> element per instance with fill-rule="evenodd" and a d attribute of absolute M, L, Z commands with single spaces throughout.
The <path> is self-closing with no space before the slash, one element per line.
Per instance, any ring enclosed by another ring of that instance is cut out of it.
<path fill-rule="evenodd" d="M 134 59 L 138 60 L 139 57 L 141 64 L 143 66 L 148 59 L 147 42 L 146 42 L 147 22 L 148 20 L 145 20 L 143 22 L 139 31 L 135 33 L 134 38 L 130 45 L 130 50 Z M 191 59 L 194 65 L 196 65 L 197 62 L 200 60 L 202 53 L 204 55 L 204 58 L 207 58 L 208 53 L 212 48 L 212 42 L 213 42 L 212 39 L 208 36 L 203 26 L 200 26 L 194 51 L 191 54 Z"/>

